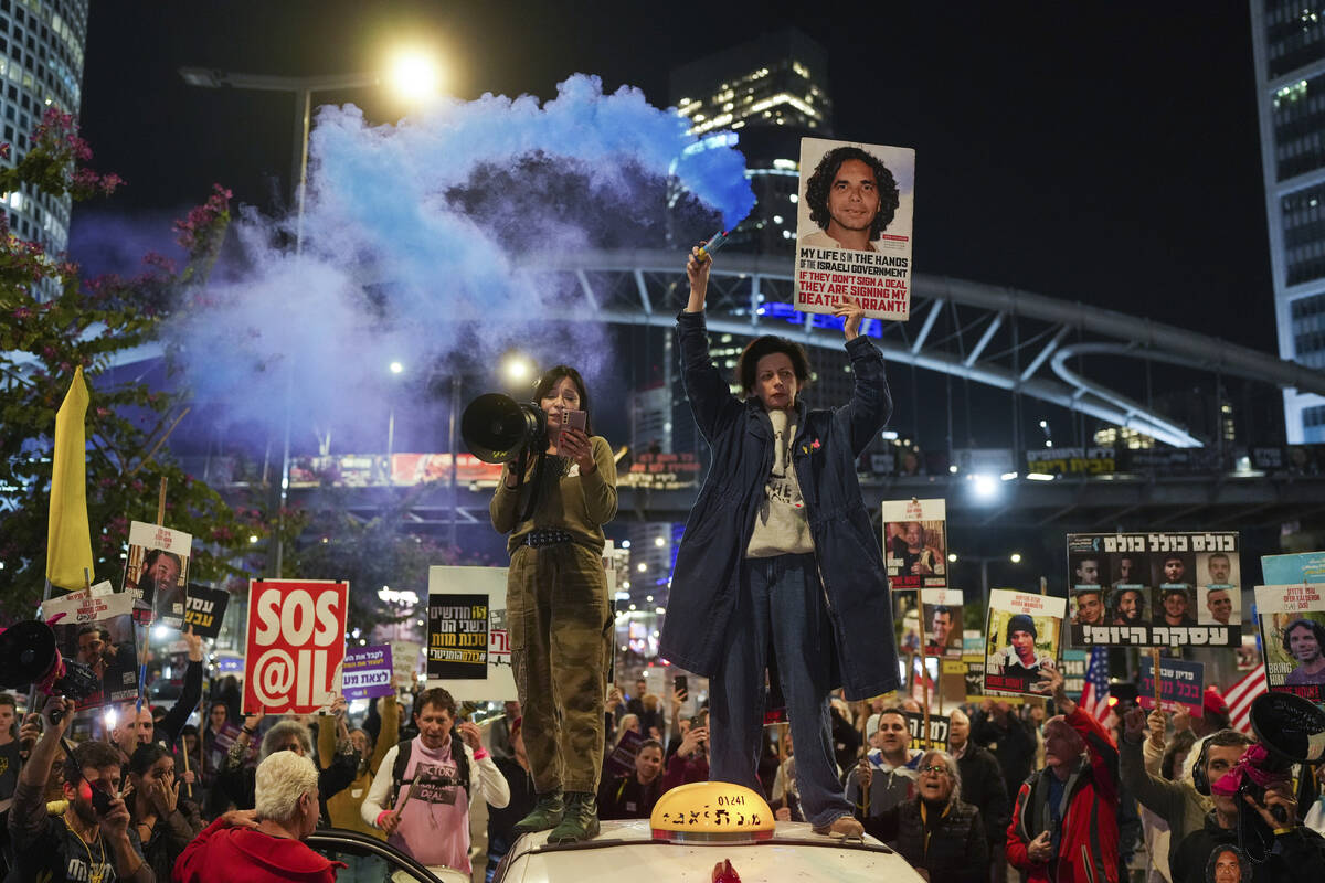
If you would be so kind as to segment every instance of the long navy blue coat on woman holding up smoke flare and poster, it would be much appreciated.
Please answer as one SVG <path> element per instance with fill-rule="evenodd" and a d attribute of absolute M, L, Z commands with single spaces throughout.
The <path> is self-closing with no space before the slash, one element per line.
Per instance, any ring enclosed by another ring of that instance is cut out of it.
<path fill-rule="evenodd" d="M 757 397 L 741 401 L 709 357 L 702 312 L 677 316 L 686 396 L 713 451 L 677 551 L 659 654 L 705 676 L 721 667 L 754 519 L 772 471 L 772 422 Z M 897 688 L 888 576 L 856 479 L 856 458 L 892 416 L 884 356 L 864 335 L 847 343 L 856 375 L 851 401 L 808 410 L 796 401 L 792 461 L 815 540 L 836 637 L 833 678 L 848 699 Z M 779 665 L 798 665 L 783 659 Z"/>

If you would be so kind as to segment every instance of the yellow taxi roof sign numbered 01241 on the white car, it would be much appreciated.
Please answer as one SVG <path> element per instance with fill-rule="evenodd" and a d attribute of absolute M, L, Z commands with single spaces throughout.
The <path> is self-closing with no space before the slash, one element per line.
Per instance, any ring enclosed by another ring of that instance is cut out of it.
<path fill-rule="evenodd" d="M 731 782 L 690 782 L 662 794 L 649 815 L 660 841 L 719 841 L 772 838 L 775 821 L 763 797 Z"/>

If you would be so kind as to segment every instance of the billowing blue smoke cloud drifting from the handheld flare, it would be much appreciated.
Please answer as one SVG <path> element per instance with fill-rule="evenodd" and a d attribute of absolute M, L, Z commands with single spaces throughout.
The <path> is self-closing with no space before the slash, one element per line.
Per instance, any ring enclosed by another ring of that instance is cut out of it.
<path fill-rule="evenodd" d="M 576 323 L 556 360 L 590 380 L 607 373 L 608 339 L 576 306 L 578 290 L 521 269 L 530 253 L 599 246 L 592 218 L 568 220 L 546 192 L 522 189 L 521 164 L 541 156 L 574 169 L 625 213 L 653 210 L 641 180 L 673 176 L 730 229 L 754 204 L 745 160 L 727 147 L 686 154 L 696 139 L 685 128 L 640 90 L 606 95 L 583 74 L 542 105 L 488 94 L 396 126 L 370 126 L 354 106 L 322 107 L 302 225 L 245 210 L 232 228 L 242 261 L 220 267 L 204 306 L 174 328 L 191 385 L 236 420 L 277 426 L 289 406 L 295 420 L 352 422 L 380 408 L 390 361 L 493 360 L 546 338 L 549 320 Z M 476 176 L 513 184 L 485 195 L 518 218 L 513 229 L 494 229 L 456 197 Z M 302 254 L 272 245 L 295 228 Z"/>

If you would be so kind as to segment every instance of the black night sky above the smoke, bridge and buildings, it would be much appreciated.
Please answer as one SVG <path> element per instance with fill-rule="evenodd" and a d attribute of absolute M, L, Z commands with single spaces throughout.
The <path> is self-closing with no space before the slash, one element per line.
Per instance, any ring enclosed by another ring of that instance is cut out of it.
<path fill-rule="evenodd" d="M 1244 4 L 889 3 L 831 19 L 676 8 L 94 3 L 83 131 L 95 165 L 129 187 L 77 209 L 74 256 L 105 269 L 160 246 L 213 181 L 264 212 L 285 199 L 293 98 L 192 89 L 182 65 L 364 71 L 409 40 L 444 57 L 453 95 L 549 97 L 584 71 L 665 106 L 673 65 L 791 24 L 828 48 L 837 136 L 917 150 L 918 271 L 1275 349 Z M 384 90 L 318 99 L 354 101 L 375 122 L 405 110 Z"/>

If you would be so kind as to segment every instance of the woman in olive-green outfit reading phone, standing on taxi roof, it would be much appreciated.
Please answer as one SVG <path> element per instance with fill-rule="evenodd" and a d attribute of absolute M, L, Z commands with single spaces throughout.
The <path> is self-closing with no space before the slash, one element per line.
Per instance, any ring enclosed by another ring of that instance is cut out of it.
<path fill-rule="evenodd" d="M 592 434 L 578 371 L 549 369 L 534 397 L 547 414 L 546 450 L 523 477 L 507 462 L 490 506 L 493 527 L 510 534 L 506 616 L 538 792 L 515 833 L 551 829 L 549 842 L 571 843 L 599 830 L 613 625 L 603 524 L 616 516 L 616 465 L 607 440 Z"/>

